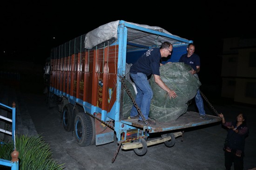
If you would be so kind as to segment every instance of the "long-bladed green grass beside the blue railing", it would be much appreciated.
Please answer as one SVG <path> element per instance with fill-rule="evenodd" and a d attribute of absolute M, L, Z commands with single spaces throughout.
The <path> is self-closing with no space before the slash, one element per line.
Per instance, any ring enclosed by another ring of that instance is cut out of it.
<path fill-rule="evenodd" d="M 49 145 L 42 136 L 16 136 L 16 151 L 19 151 L 19 170 L 63 170 L 64 164 L 58 164 L 52 158 Z M 0 158 L 11 160 L 14 150 L 13 141 L 0 145 Z M 1 166 L 0 169 L 11 169 Z"/>

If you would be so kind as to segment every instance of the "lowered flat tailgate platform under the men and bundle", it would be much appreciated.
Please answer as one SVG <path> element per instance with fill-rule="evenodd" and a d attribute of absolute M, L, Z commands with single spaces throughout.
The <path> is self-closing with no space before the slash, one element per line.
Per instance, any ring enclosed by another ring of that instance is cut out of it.
<path fill-rule="evenodd" d="M 197 112 L 186 112 L 182 114 L 177 120 L 172 120 L 168 122 L 156 122 L 155 126 L 151 127 L 151 133 L 154 132 L 163 132 L 163 131 L 170 131 L 170 130 L 177 130 L 183 129 L 188 127 L 194 126 L 201 126 L 207 125 L 210 123 L 215 123 L 221 121 L 220 117 L 212 116 L 212 115 L 205 115 L 205 119 L 199 119 L 199 113 Z M 145 125 L 141 125 L 138 123 L 138 119 L 127 119 L 121 120 L 122 123 L 129 124 L 138 128 L 143 128 Z"/>

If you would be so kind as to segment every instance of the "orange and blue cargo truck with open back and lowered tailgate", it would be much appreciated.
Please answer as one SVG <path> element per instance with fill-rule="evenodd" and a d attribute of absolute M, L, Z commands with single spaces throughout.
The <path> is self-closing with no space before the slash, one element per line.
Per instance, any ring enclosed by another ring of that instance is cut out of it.
<path fill-rule="evenodd" d="M 208 114 L 198 119 L 199 113 L 184 112 L 175 121 L 148 126 L 123 116 L 127 111 L 124 96 L 128 94 L 135 104 L 127 88 L 127 64 L 165 41 L 174 48 L 164 63 L 178 62 L 193 42 L 161 27 L 117 20 L 52 49 L 44 75 L 48 102 L 58 104 L 62 125 L 67 132 L 74 131 L 78 145 L 103 145 L 116 140 L 118 148 L 142 156 L 151 145 L 172 147 L 187 128 L 221 120 Z"/>

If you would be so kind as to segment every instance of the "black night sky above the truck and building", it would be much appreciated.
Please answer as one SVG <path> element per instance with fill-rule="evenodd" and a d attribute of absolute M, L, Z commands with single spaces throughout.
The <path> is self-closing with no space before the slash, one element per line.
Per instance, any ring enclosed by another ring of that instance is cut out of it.
<path fill-rule="evenodd" d="M 254 5 L 241 1 L 144 4 L 123 1 L 122 5 L 109 4 L 100 1 L 89 5 L 85 1 L 5 0 L 0 6 L 1 60 L 44 63 L 51 48 L 100 25 L 125 20 L 159 26 L 174 35 L 193 40 L 195 53 L 201 57 L 201 72 L 208 74 L 215 70 L 219 75 L 221 58 L 218 55 L 222 52 L 222 38 L 255 37 L 256 34 Z"/>

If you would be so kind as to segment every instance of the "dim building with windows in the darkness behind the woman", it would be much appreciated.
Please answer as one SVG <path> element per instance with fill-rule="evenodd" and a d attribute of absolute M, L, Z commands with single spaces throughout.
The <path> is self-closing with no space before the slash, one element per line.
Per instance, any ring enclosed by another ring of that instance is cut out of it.
<path fill-rule="evenodd" d="M 256 105 L 256 65 L 250 66 L 255 54 L 256 39 L 223 39 L 222 97 Z"/>

